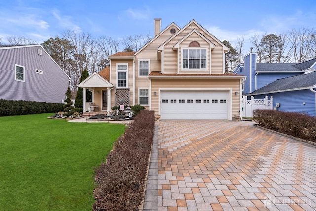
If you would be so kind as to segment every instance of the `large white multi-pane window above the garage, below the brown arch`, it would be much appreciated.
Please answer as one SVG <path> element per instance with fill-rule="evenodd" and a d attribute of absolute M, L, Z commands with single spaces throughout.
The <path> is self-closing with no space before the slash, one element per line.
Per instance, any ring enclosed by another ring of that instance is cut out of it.
<path fill-rule="evenodd" d="M 182 49 L 182 70 L 206 70 L 206 48 Z"/>

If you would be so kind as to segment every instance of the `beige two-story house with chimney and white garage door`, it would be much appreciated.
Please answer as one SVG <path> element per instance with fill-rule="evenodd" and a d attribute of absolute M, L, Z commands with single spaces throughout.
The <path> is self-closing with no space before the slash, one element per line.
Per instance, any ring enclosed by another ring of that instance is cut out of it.
<path fill-rule="evenodd" d="M 183 28 L 175 23 L 160 28 L 161 19 L 154 19 L 155 36 L 145 46 L 110 56 L 110 68 L 80 83 L 93 92 L 100 111 L 139 104 L 161 120 L 239 116 L 245 76 L 225 74 L 229 48 L 195 20 Z"/>

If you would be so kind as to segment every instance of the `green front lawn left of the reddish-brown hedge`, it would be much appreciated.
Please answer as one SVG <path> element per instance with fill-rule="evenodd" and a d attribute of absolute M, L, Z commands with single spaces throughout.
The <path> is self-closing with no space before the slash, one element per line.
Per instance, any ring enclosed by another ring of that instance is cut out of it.
<path fill-rule="evenodd" d="M 94 170 L 125 126 L 50 115 L 0 117 L 0 210 L 92 210 Z"/>

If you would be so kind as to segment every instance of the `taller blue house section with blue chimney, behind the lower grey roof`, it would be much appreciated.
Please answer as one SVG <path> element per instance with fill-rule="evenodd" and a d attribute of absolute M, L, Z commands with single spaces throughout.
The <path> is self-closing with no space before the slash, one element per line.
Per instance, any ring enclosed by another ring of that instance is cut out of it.
<path fill-rule="evenodd" d="M 251 50 L 244 57 L 244 63 L 239 63 L 233 73 L 247 76 L 243 94 L 248 94 L 277 79 L 304 74 L 315 67 L 316 59 L 303 63 L 257 63 L 256 53 Z"/>

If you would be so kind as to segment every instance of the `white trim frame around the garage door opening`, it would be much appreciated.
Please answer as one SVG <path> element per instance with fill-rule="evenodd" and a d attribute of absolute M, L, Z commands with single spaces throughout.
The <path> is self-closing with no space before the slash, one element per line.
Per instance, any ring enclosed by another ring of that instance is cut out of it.
<path fill-rule="evenodd" d="M 227 113 L 227 119 L 228 120 L 232 120 L 233 118 L 233 88 L 230 87 L 226 87 L 226 88 L 175 88 L 175 87 L 169 87 L 169 88 L 159 88 L 159 103 L 158 103 L 158 115 L 161 115 L 161 91 L 168 91 L 168 90 L 179 90 L 179 91 L 183 91 L 183 90 L 214 90 L 214 91 L 228 91 L 228 98 L 229 98 L 229 107 L 228 107 L 228 113 Z M 241 102 L 241 101 L 240 101 Z"/>

